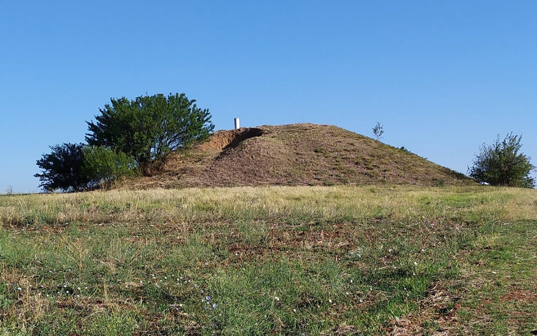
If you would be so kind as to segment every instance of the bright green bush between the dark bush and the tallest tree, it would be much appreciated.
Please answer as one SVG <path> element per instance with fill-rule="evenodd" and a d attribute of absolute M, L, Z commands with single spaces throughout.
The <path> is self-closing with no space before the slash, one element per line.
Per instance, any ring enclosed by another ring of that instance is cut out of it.
<path fill-rule="evenodd" d="M 134 158 L 125 153 L 115 152 L 104 146 L 86 146 L 83 153 L 84 175 L 95 187 L 106 187 L 120 177 L 135 175 Z"/>

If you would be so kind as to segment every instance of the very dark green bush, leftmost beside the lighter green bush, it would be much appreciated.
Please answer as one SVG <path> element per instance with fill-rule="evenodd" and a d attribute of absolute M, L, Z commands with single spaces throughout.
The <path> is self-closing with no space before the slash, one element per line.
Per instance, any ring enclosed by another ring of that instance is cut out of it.
<path fill-rule="evenodd" d="M 37 165 L 42 169 L 39 177 L 39 187 L 46 191 L 82 191 L 88 188 L 90 179 L 84 175 L 83 144 L 64 143 L 51 146 L 51 152 L 43 154 L 37 160 Z"/>

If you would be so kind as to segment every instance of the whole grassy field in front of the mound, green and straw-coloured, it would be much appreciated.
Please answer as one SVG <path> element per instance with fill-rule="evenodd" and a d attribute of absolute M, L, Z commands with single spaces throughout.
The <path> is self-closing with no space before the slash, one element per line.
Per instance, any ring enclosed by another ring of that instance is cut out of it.
<path fill-rule="evenodd" d="M 532 334 L 537 191 L 0 196 L 0 334 Z"/>

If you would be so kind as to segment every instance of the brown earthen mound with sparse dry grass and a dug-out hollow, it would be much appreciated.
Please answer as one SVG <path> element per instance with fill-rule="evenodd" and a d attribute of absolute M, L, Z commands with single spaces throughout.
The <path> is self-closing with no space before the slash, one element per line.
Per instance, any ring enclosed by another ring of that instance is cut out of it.
<path fill-rule="evenodd" d="M 336 126 L 292 124 L 215 132 L 172 153 L 137 188 L 237 185 L 463 184 L 460 173 Z"/>

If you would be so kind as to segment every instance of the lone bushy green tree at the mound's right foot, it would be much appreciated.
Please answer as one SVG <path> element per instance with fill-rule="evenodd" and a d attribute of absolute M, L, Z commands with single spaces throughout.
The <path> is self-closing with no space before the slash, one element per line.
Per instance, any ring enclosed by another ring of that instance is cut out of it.
<path fill-rule="evenodd" d="M 534 188 L 535 180 L 529 174 L 535 166 L 530 163 L 529 156 L 519 153 L 521 140 L 521 135 L 509 133 L 504 140 L 500 140 L 498 135 L 490 146 L 483 144 L 473 166 L 468 168 L 469 175 L 492 185 Z"/>

